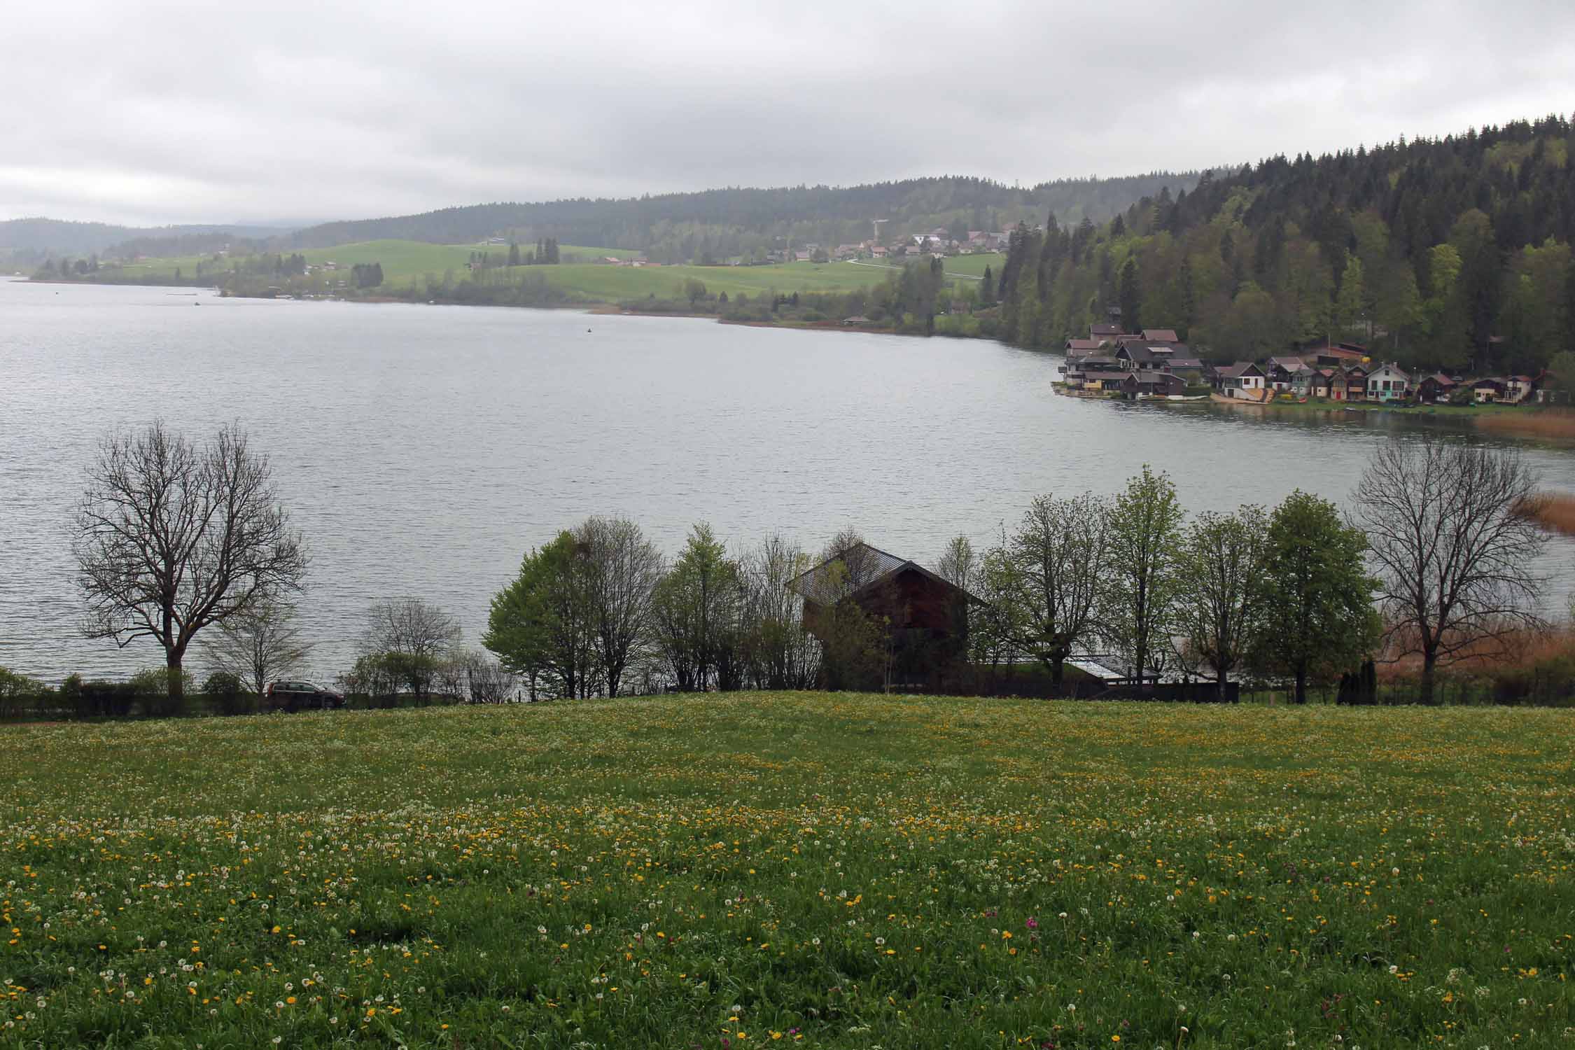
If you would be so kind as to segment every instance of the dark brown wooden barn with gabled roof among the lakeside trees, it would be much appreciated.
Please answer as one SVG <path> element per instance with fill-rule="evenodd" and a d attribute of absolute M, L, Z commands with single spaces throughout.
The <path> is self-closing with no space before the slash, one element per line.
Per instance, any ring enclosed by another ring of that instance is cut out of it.
<path fill-rule="evenodd" d="M 788 584 L 803 598 L 803 625 L 832 645 L 830 614 L 850 601 L 887 638 L 888 688 L 931 690 L 967 660 L 969 604 L 980 600 L 917 562 L 858 543 Z"/>

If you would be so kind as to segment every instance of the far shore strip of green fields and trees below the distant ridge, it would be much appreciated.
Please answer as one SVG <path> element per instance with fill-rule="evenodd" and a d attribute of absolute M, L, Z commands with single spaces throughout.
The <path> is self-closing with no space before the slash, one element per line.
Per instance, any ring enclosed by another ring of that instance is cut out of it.
<path fill-rule="evenodd" d="M 430 305 L 567 307 L 594 313 L 712 316 L 761 327 L 995 337 L 997 252 L 907 260 L 650 264 L 630 250 L 375 241 L 295 255 L 106 264 L 38 282 L 216 288 L 222 296 Z"/>

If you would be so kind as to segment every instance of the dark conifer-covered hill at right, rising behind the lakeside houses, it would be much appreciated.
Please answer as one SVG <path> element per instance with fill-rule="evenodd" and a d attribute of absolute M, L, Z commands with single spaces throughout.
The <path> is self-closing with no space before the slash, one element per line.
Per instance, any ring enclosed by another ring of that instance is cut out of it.
<path fill-rule="evenodd" d="M 1402 365 L 1534 372 L 1575 349 L 1562 116 L 1277 156 L 1102 227 L 1049 219 L 1002 269 L 1002 327 L 1024 345 L 1087 335 L 1118 305 L 1128 331 L 1175 327 L 1216 359 L 1332 337 Z"/>

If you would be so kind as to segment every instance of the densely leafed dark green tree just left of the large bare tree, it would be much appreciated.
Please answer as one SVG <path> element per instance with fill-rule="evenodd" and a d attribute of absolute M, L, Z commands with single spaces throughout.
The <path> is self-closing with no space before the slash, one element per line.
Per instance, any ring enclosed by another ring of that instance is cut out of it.
<path fill-rule="evenodd" d="M 1332 502 L 1298 490 L 1269 516 L 1266 546 L 1251 663 L 1290 675 L 1306 704 L 1309 678 L 1354 667 L 1378 642 L 1367 538 Z"/>

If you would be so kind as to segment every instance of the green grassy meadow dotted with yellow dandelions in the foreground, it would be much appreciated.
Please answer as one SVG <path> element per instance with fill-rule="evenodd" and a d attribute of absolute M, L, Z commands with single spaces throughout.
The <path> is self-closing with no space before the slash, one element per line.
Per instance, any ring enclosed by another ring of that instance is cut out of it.
<path fill-rule="evenodd" d="M 1575 1047 L 1575 713 L 5 726 L 0 1047 Z"/>

